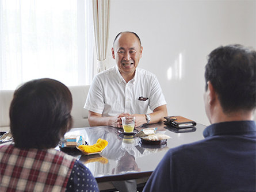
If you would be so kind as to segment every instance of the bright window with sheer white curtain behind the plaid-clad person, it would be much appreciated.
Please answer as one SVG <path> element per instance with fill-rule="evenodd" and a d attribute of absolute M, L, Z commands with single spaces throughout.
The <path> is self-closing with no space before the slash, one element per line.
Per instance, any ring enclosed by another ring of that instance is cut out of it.
<path fill-rule="evenodd" d="M 94 76 L 90 3 L 1 0 L 0 89 L 38 78 L 89 85 Z"/>

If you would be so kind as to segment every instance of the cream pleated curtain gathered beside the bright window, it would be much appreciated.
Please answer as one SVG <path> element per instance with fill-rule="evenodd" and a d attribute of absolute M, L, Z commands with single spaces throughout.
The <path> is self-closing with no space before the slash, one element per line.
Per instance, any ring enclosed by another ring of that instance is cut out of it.
<path fill-rule="evenodd" d="M 106 70 L 109 64 L 109 57 L 106 56 L 109 36 L 109 7 L 109 0 L 93 0 L 97 72 Z"/>

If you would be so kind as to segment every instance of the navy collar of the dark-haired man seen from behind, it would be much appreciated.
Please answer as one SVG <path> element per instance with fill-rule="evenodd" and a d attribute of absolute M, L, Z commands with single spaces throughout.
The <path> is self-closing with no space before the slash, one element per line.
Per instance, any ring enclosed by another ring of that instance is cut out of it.
<path fill-rule="evenodd" d="M 255 121 L 219 122 L 207 126 L 204 129 L 203 135 L 204 137 L 209 137 L 215 135 L 244 135 L 245 133 L 256 135 Z"/>

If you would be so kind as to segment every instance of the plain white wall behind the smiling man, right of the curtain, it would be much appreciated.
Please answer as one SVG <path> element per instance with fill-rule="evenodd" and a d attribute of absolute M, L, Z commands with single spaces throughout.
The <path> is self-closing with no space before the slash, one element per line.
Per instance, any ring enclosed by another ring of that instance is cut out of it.
<path fill-rule="evenodd" d="M 136 32 L 143 45 L 139 67 L 158 77 L 169 116 L 208 125 L 202 99 L 207 55 L 219 45 L 256 47 L 255 2 L 111 0 L 109 56 L 117 33 Z"/>

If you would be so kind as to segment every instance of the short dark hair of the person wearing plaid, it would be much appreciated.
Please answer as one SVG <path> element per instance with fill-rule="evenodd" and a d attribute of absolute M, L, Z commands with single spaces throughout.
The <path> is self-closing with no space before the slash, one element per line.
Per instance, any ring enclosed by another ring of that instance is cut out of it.
<path fill-rule="evenodd" d="M 72 95 L 54 79 L 31 80 L 10 105 L 10 129 L 18 148 L 54 148 L 72 127 Z"/>

